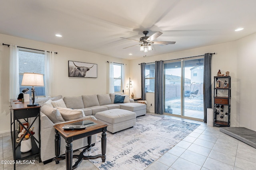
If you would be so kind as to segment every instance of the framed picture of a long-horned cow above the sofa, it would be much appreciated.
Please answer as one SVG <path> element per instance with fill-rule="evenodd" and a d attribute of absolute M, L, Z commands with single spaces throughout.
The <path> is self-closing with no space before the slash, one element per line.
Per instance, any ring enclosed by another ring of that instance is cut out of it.
<path fill-rule="evenodd" d="M 97 64 L 68 61 L 68 76 L 97 78 Z"/>

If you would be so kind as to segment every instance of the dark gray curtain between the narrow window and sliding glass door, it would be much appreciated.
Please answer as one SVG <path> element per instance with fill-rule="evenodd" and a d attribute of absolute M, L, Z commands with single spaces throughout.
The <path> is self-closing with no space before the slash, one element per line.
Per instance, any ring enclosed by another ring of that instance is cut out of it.
<path fill-rule="evenodd" d="M 155 62 L 155 113 L 164 113 L 164 61 Z"/>

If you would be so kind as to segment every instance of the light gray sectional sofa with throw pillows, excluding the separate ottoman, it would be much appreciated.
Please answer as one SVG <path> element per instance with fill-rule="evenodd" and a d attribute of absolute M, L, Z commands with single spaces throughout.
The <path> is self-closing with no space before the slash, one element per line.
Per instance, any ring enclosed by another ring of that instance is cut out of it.
<path fill-rule="evenodd" d="M 115 103 L 116 95 L 121 94 L 95 94 L 64 98 L 62 98 L 62 96 L 56 96 L 53 98 L 36 99 L 36 102 L 42 106 L 40 113 L 41 160 L 43 162 L 48 162 L 55 157 L 55 131 L 53 126 L 58 123 L 63 123 L 64 121 L 74 121 L 76 119 L 81 119 L 81 117 L 91 117 L 96 119 L 94 117 L 96 113 L 110 109 L 125 109 L 133 111 L 136 113 L 136 116 L 146 114 L 145 104 L 135 103 L 134 100 L 129 99 L 128 95 L 122 95 L 125 96 L 123 103 Z M 57 104 L 57 107 L 53 107 L 54 104 Z M 60 108 L 58 105 L 62 107 Z M 97 135 L 92 135 L 92 144 L 96 143 L 96 137 Z M 78 139 L 72 144 L 73 150 L 86 147 L 88 145 L 87 138 Z M 60 154 L 65 153 L 65 146 L 66 143 L 62 138 Z"/>

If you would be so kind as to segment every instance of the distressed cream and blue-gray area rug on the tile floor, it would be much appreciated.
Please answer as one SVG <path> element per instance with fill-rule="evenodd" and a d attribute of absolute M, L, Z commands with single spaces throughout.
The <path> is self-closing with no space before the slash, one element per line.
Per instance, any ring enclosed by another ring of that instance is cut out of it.
<path fill-rule="evenodd" d="M 107 132 L 106 162 L 101 158 L 90 161 L 100 170 L 143 170 L 198 126 L 166 117 L 140 116 L 132 128 Z M 91 155 L 101 154 L 100 141 L 98 133 Z"/>

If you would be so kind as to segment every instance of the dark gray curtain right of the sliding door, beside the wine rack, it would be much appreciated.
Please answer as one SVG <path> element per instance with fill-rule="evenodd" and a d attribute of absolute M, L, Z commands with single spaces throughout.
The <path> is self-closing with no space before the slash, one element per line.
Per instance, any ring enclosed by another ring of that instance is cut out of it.
<path fill-rule="evenodd" d="M 212 53 L 204 54 L 204 123 L 207 123 L 207 108 L 212 108 Z"/>

